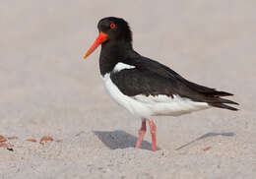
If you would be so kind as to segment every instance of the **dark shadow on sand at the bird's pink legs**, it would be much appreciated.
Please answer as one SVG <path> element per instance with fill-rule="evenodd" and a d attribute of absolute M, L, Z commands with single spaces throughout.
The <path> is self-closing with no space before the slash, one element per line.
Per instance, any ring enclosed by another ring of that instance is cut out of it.
<path fill-rule="evenodd" d="M 124 131 L 94 131 L 96 137 L 109 149 L 134 148 L 137 138 Z M 140 149 L 152 149 L 151 143 L 143 141 Z M 157 148 L 160 149 L 160 148 Z"/>

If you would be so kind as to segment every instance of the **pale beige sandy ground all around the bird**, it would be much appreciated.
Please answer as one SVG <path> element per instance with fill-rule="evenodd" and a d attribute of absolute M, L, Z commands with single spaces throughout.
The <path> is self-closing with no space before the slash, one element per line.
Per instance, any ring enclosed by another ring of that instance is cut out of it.
<path fill-rule="evenodd" d="M 256 1 L 3 1 L 0 178 L 256 178 Z M 134 47 L 196 83 L 227 90 L 238 112 L 156 117 L 158 151 L 141 121 L 106 94 L 100 18 L 126 19 Z M 39 144 L 43 136 L 52 142 Z M 26 140 L 34 139 L 36 143 Z M 59 140 L 59 141 L 58 141 Z"/>

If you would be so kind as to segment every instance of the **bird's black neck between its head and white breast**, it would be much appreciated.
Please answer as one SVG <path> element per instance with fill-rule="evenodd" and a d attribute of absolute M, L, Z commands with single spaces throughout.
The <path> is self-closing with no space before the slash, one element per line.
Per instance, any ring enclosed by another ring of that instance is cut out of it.
<path fill-rule="evenodd" d="M 122 62 L 134 54 L 131 42 L 124 40 L 107 41 L 101 44 L 99 69 L 101 76 L 113 70 L 118 62 Z"/>

